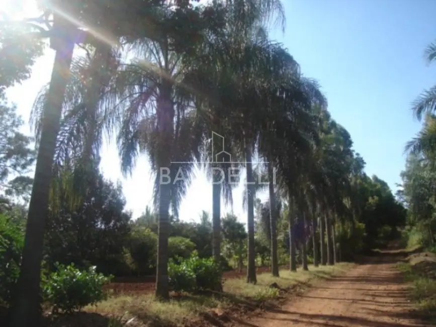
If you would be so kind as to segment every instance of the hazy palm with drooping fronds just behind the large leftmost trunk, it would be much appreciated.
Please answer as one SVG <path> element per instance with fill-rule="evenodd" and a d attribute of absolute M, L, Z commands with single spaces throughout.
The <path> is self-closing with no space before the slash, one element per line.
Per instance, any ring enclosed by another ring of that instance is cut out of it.
<path fill-rule="evenodd" d="M 96 159 L 99 157 L 108 114 L 101 105 L 101 100 L 109 90 L 117 65 L 117 52 L 103 42 L 96 42 L 94 50 L 89 50 L 85 57 L 72 61 L 53 160 L 54 178 L 50 191 L 52 210 L 57 208 L 59 187 L 69 190 L 73 206 L 79 205 L 86 193 L 88 185 L 82 176 L 88 171 L 92 172 L 98 161 Z M 47 85 L 41 89 L 31 113 L 37 144 L 48 94 Z"/>

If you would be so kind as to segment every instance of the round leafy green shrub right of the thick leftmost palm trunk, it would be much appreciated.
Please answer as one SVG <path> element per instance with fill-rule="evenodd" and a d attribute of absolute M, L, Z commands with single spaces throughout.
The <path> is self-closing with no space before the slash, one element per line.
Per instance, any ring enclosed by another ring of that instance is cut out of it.
<path fill-rule="evenodd" d="M 106 298 L 103 285 L 112 276 L 96 273 L 95 267 L 80 271 L 74 265 L 57 265 L 43 286 L 43 296 L 53 305 L 53 311 L 73 312 Z"/>

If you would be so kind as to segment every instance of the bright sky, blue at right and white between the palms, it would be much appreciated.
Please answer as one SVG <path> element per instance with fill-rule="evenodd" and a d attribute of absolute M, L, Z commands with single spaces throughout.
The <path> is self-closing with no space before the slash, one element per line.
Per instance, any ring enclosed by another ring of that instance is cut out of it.
<path fill-rule="evenodd" d="M 285 34 L 271 32 L 300 63 L 303 73 L 318 79 L 332 117 L 350 132 L 354 148 L 392 189 L 404 168 L 404 144 L 420 128 L 410 103 L 436 83 L 436 68 L 423 60 L 425 46 L 436 40 L 431 0 L 286 0 Z M 32 77 L 8 91 L 19 113 L 28 121 L 41 86 L 50 78 L 53 53 L 47 50 Z M 28 126 L 24 131 L 29 132 Z M 123 181 L 127 209 L 138 216 L 151 204 L 152 183 L 145 158 L 132 177 L 120 173 L 115 145 L 102 154 L 105 176 Z M 234 191 L 233 211 L 241 221 L 242 189 Z M 182 204 L 181 219 L 198 219 L 212 210 L 212 187 L 199 172 Z M 230 208 L 226 210 L 230 211 Z"/>

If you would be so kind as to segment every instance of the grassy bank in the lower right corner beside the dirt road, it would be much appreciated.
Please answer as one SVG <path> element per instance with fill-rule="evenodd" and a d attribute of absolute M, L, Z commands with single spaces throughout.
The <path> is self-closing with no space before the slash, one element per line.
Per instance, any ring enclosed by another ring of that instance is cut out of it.
<path fill-rule="evenodd" d="M 399 263 L 397 269 L 410 283 L 410 297 L 415 302 L 415 313 L 422 319 L 436 322 L 436 280 L 425 276 L 410 265 Z"/>

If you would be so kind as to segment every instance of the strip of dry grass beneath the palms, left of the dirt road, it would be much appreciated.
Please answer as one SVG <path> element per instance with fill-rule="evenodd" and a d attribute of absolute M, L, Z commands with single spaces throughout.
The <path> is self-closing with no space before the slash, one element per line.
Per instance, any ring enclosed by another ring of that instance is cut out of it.
<path fill-rule="evenodd" d="M 156 301 L 151 294 L 120 295 L 85 310 L 103 315 L 123 314 L 125 319 L 134 319 L 129 326 L 178 326 L 188 321 L 196 321 L 204 313 L 212 312 L 219 316 L 234 308 L 243 308 L 242 311 L 253 310 L 279 298 L 283 295 L 283 290 L 307 285 L 315 279 L 329 278 L 351 266 L 353 264 L 350 263 L 318 268 L 309 266 L 309 271 L 300 268 L 294 273 L 282 270 L 280 277 L 263 273 L 257 275 L 256 285 L 247 284 L 245 278 L 228 279 L 224 282 L 223 293 L 181 294 L 164 303 Z M 271 287 L 274 283 L 280 289 Z"/>

